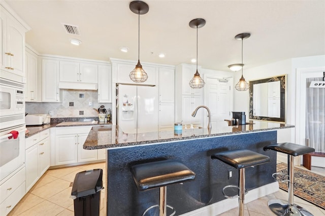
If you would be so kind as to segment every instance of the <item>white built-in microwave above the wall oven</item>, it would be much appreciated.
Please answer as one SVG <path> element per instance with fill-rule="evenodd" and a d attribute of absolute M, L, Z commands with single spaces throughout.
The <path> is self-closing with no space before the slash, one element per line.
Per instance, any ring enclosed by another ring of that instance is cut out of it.
<path fill-rule="evenodd" d="M 24 84 L 0 78 L 0 129 L 24 123 Z"/>

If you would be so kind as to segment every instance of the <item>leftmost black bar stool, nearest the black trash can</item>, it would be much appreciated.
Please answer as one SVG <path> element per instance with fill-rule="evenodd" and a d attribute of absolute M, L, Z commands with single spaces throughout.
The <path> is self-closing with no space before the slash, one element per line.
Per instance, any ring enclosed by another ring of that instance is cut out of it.
<path fill-rule="evenodd" d="M 177 160 L 134 165 L 131 167 L 131 172 L 139 191 L 160 188 L 159 205 L 150 206 L 142 215 L 154 207 L 159 207 L 159 216 L 167 216 L 167 207 L 173 210 L 170 216 L 174 215 L 175 208 L 167 205 L 166 201 L 167 186 L 193 180 L 195 177 L 192 170 Z"/>

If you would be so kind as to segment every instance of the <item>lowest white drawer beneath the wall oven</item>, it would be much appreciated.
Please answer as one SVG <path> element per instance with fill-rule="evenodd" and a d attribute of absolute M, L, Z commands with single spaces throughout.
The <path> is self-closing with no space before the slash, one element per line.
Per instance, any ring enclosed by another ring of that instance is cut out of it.
<path fill-rule="evenodd" d="M 23 182 L 3 203 L 0 204 L 0 215 L 7 215 L 24 195 L 25 183 Z"/>

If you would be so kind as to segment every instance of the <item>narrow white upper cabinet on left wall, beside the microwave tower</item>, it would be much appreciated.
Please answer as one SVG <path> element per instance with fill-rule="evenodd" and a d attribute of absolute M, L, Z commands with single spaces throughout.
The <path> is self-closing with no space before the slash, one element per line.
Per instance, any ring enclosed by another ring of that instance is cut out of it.
<path fill-rule="evenodd" d="M 40 102 L 41 88 L 38 85 L 38 59 L 32 51 L 26 48 L 26 85 L 25 85 L 25 101 Z"/>

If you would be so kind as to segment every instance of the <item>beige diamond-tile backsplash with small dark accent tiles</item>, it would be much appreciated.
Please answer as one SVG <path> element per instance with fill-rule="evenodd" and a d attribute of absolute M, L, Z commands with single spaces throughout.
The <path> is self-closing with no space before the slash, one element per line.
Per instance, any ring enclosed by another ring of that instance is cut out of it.
<path fill-rule="evenodd" d="M 26 113 L 49 114 L 50 111 L 53 111 L 51 118 L 98 117 L 98 114 L 93 109 L 98 109 L 98 107 L 104 105 L 106 109 L 110 108 L 112 110 L 112 103 L 98 103 L 97 91 L 70 89 L 61 89 L 61 91 L 61 103 L 26 102 Z M 80 97 L 81 94 L 83 94 L 83 97 Z"/>

